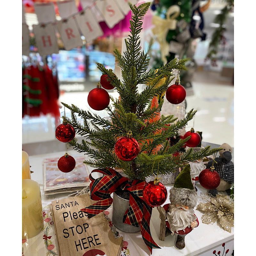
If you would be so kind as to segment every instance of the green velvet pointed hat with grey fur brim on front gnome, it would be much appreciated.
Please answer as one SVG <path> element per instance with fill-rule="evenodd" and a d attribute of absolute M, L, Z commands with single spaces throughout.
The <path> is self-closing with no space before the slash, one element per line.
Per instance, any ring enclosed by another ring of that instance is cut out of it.
<path fill-rule="evenodd" d="M 192 184 L 189 164 L 184 166 L 184 169 L 174 181 L 173 188 L 170 189 L 170 202 L 187 205 L 190 208 L 196 207 L 197 193 Z"/>

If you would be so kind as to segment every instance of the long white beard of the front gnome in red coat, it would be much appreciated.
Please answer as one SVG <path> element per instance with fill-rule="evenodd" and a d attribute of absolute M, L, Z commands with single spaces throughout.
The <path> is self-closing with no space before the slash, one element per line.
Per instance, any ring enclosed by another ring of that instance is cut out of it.
<path fill-rule="evenodd" d="M 170 224 L 172 235 L 175 231 L 184 230 L 189 227 L 191 222 L 196 220 L 193 209 L 188 211 L 180 210 L 174 204 L 169 205 L 169 211 L 166 213 L 166 218 Z"/>

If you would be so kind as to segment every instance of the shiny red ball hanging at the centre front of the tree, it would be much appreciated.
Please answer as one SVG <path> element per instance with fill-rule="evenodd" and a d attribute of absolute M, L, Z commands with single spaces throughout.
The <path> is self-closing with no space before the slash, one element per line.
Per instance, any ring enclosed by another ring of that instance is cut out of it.
<path fill-rule="evenodd" d="M 134 138 L 119 138 L 115 144 L 116 156 L 123 161 L 132 161 L 139 155 L 140 145 Z"/>

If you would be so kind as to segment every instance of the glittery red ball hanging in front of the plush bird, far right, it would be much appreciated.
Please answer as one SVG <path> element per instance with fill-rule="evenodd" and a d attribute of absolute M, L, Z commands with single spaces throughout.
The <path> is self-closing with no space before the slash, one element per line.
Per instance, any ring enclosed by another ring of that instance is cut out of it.
<path fill-rule="evenodd" d="M 203 188 L 214 189 L 220 185 L 220 174 L 215 170 L 204 169 L 198 177 L 199 183 Z"/>

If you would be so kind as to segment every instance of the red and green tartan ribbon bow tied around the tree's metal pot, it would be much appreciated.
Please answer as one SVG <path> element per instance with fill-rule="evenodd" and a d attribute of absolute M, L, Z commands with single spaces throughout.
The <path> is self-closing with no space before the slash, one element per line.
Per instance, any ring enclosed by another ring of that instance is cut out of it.
<path fill-rule="evenodd" d="M 100 172 L 103 177 L 94 179 L 93 172 Z M 123 222 L 135 227 L 140 226 L 140 231 L 145 244 L 148 246 L 152 254 L 152 248 L 160 248 L 153 240 L 149 223 L 152 213 L 152 208 L 143 201 L 142 190 L 146 184 L 143 180 L 133 180 L 129 183 L 129 179 L 123 177 L 114 169 L 95 169 L 89 175 L 90 191 L 92 200 L 98 201 L 80 211 L 87 212 L 88 217 L 93 217 L 100 212 L 106 210 L 113 202 L 110 196 L 116 190 L 128 190 L 130 193 L 129 207 L 124 213 Z"/>

